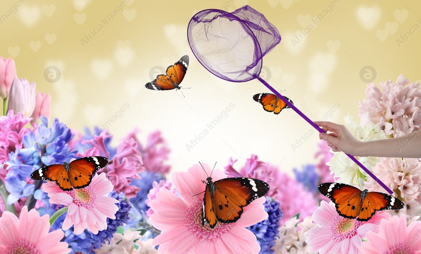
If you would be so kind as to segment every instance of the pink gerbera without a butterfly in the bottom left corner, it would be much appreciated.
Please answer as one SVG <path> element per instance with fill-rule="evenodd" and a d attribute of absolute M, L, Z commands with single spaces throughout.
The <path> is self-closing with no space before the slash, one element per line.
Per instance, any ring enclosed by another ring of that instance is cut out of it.
<path fill-rule="evenodd" d="M 35 209 L 23 207 L 20 218 L 3 212 L 0 218 L 0 254 L 67 254 L 71 251 L 61 242 L 64 232 L 50 231 L 48 215 L 40 217 Z"/>

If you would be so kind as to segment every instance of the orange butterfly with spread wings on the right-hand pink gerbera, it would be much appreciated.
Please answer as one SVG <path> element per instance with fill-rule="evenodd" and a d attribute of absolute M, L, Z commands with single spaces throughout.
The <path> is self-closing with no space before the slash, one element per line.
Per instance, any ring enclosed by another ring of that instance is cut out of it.
<path fill-rule="evenodd" d="M 402 201 L 389 194 L 361 191 L 344 183 L 322 183 L 318 189 L 335 203 L 339 215 L 349 219 L 368 221 L 376 211 L 399 210 L 404 206 Z"/>

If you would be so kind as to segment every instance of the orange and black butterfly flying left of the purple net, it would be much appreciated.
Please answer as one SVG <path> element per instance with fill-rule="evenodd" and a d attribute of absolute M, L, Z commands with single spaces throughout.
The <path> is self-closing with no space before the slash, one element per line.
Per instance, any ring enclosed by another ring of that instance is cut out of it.
<path fill-rule="evenodd" d="M 167 75 L 158 75 L 154 81 L 145 85 L 147 89 L 151 90 L 172 90 L 181 89 L 180 83 L 186 75 L 187 67 L 189 66 L 189 56 L 185 55 L 174 65 L 167 68 Z"/>

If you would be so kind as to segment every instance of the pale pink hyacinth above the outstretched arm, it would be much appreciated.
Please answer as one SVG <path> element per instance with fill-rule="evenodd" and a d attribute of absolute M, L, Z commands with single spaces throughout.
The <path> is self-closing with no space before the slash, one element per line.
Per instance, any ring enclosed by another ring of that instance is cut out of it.
<path fill-rule="evenodd" d="M 373 122 L 379 126 L 378 132 L 384 130 L 384 134 L 393 134 L 394 137 L 420 130 L 420 84 L 408 83 L 409 79 L 404 79 L 400 74 L 396 83 L 392 83 L 390 79 L 380 83 L 383 91 L 374 83 L 367 84 L 367 100 L 360 101 L 358 106 L 361 126 Z"/>

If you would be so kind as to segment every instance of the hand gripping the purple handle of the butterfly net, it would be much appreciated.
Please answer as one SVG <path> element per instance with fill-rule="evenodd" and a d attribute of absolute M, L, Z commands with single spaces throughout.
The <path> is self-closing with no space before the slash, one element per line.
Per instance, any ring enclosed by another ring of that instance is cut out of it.
<path fill-rule="evenodd" d="M 320 133 L 319 138 L 326 141 L 333 152 L 344 152 L 354 156 L 358 155 L 358 151 L 363 142 L 357 140 L 346 126 L 332 122 L 314 122 L 320 126 L 326 133 Z M 327 133 L 331 131 L 331 133 Z"/>

